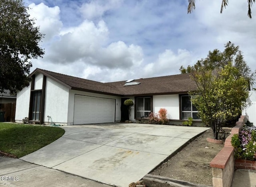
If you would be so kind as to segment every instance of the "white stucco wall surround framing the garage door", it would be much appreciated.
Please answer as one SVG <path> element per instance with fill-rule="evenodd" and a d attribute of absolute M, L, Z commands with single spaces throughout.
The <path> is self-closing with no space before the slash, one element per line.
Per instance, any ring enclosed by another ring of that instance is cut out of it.
<path fill-rule="evenodd" d="M 76 90 L 69 91 L 69 98 L 68 98 L 68 125 L 72 125 L 74 121 L 74 100 L 75 94 L 85 95 L 85 96 L 94 96 L 94 97 L 102 97 L 102 98 L 112 98 L 116 99 L 116 122 L 121 120 L 121 97 L 118 96 L 111 96 L 111 95 L 104 95 L 104 94 L 97 94 L 97 93 L 90 93 L 90 92 L 82 92 Z"/>

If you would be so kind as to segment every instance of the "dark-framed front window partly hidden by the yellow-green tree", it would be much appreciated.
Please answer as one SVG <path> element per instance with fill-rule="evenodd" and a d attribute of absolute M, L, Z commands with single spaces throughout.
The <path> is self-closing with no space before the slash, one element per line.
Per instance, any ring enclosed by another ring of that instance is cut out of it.
<path fill-rule="evenodd" d="M 193 120 L 200 120 L 200 118 L 198 117 L 198 110 L 191 102 L 190 96 L 182 95 L 182 96 L 180 96 L 180 100 L 181 100 L 181 118 L 182 118 L 182 120 L 186 120 L 189 117 L 192 117 Z"/>

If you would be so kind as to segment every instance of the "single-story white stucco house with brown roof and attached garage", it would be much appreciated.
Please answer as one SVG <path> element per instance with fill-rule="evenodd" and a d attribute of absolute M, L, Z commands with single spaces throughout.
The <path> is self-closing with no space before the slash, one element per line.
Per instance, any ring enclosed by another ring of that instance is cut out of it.
<path fill-rule="evenodd" d="M 124 100 L 134 101 L 131 120 L 166 108 L 171 124 L 198 119 L 188 91 L 196 90 L 189 74 L 100 83 L 43 69 L 35 69 L 32 81 L 17 93 L 16 122 L 61 125 L 96 124 L 128 120 Z"/>

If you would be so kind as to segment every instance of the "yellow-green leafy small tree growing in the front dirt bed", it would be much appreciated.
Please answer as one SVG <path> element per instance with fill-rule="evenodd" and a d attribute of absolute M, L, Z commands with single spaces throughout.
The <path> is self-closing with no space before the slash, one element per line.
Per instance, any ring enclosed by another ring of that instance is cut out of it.
<path fill-rule="evenodd" d="M 248 104 L 247 81 L 243 76 L 237 77 L 238 73 L 239 69 L 232 63 L 214 70 L 200 67 L 200 71 L 192 72 L 197 91 L 189 93 L 191 101 L 198 110 L 198 116 L 212 128 L 217 140 L 220 128 L 240 115 Z"/>

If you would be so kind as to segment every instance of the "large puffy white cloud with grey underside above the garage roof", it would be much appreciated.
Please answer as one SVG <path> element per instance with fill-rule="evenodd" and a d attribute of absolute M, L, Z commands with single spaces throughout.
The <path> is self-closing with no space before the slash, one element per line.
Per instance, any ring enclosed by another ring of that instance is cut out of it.
<path fill-rule="evenodd" d="M 45 58 L 61 64 L 84 61 L 86 64 L 108 68 L 130 67 L 134 63 L 141 63 L 141 47 L 127 46 L 123 41 L 106 45 L 107 40 L 108 28 L 104 21 L 95 25 L 85 20 L 80 26 L 62 32 L 60 39 L 52 43 Z"/>

